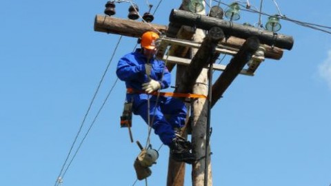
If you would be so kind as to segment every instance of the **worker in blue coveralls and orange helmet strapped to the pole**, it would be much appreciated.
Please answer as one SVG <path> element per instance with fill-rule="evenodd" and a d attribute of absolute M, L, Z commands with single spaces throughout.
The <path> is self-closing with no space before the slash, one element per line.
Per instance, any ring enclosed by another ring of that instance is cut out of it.
<path fill-rule="evenodd" d="M 159 35 L 155 32 L 143 33 L 140 39 L 141 48 L 119 60 L 117 76 L 126 82 L 126 99 L 132 101 L 132 112 L 140 115 L 146 123 L 152 122 L 150 125 L 154 133 L 163 144 L 170 147 L 172 158 L 175 161 L 193 163 L 195 158 L 190 152 L 190 142 L 179 136 L 187 114 L 185 104 L 174 97 L 159 96 L 157 99 L 157 96 L 151 95 L 152 92 L 169 87 L 171 81 L 171 74 L 164 61 L 154 57 L 157 39 Z M 166 119 L 165 114 L 169 114 L 170 118 Z"/>

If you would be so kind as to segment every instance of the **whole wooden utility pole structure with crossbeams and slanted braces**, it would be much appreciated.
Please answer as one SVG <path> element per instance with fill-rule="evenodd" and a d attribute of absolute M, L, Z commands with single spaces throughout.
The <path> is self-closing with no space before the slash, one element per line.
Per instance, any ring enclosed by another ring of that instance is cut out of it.
<path fill-rule="evenodd" d="M 247 71 L 243 70 L 243 67 L 259 46 L 265 48 L 264 56 L 262 59 L 254 56 L 253 59 L 260 59 L 261 61 L 265 58 L 281 59 L 283 49 L 290 50 L 292 48 L 294 43 L 292 37 L 250 28 L 232 21 L 207 17 L 205 16 L 205 9 L 201 12 L 188 12 L 190 1 L 183 0 L 181 10 L 172 10 L 168 26 L 97 15 L 94 21 L 94 30 L 128 37 L 141 37 L 141 34 L 146 31 L 165 34 L 167 37 L 161 39 L 161 45 L 162 42 L 166 47 L 171 45 L 167 55 L 172 56 L 172 63 L 187 65 L 177 65 L 175 92 L 192 92 L 193 94 L 208 96 L 208 69 L 206 67 L 217 60 L 220 52 L 233 55 L 234 57 L 228 65 L 217 67 L 219 70 L 223 70 L 223 73 L 212 87 L 210 105 L 214 105 L 221 98 L 239 73 L 248 74 Z M 203 4 L 205 3 L 203 2 Z M 207 36 L 205 36 L 205 30 L 209 31 Z M 180 39 L 182 41 L 179 41 Z M 160 56 L 158 57 L 160 59 L 164 59 L 162 57 L 165 56 L 165 48 L 159 47 L 158 54 Z M 170 64 L 167 66 L 170 70 L 174 67 Z M 217 68 L 215 65 L 214 69 Z M 192 151 L 198 158 L 198 161 L 192 165 L 192 185 L 202 186 L 205 183 L 212 185 L 211 161 L 207 161 L 208 165 L 205 165 L 205 149 L 207 149 L 208 157 L 210 154 L 210 145 L 205 141 L 209 130 L 207 125 L 208 100 L 194 99 L 191 107 Z M 185 135 L 187 134 L 184 133 Z M 208 174 L 205 174 L 205 167 L 207 167 Z M 206 180 L 205 175 L 208 175 Z M 167 185 L 183 186 L 184 176 L 185 163 L 172 161 L 170 157 Z"/>

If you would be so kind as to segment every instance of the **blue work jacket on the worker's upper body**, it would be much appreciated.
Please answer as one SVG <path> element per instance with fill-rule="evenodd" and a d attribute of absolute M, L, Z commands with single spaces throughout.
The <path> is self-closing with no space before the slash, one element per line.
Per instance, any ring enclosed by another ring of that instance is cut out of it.
<path fill-rule="evenodd" d="M 141 49 L 137 49 L 135 52 L 131 52 L 123 56 L 119 63 L 117 64 L 116 74 L 121 79 L 121 81 L 126 82 L 127 88 L 132 88 L 139 92 L 143 92 L 142 84 L 149 80 L 146 74 L 145 64 L 148 59 L 145 55 L 141 53 Z M 170 86 L 171 74 L 165 67 L 164 61 L 158 59 L 150 59 L 149 63 L 152 65 L 152 70 L 150 72 L 150 78 L 155 81 L 159 81 L 161 84 L 161 89 L 165 89 Z M 162 75 L 163 74 L 163 75 Z M 152 96 L 151 99 L 154 96 Z M 134 101 L 134 105 L 139 105 L 142 101 L 148 99 L 147 94 L 127 94 L 126 99 L 128 101 Z"/>

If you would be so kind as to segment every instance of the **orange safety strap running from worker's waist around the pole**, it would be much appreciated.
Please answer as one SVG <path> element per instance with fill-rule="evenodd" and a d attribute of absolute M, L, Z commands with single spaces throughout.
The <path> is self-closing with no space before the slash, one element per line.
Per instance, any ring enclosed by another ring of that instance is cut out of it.
<path fill-rule="evenodd" d="M 132 88 L 127 88 L 126 89 L 127 94 L 150 94 L 153 96 L 172 96 L 172 97 L 180 97 L 180 98 L 201 98 L 201 99 L 207 99 L 207 96 L 203 94 L 190 94 L 190 93 L 174 93 L 174 92 L 152 92 L 152 93 L 147 93 L 143 90 L 134 90 Z"/>

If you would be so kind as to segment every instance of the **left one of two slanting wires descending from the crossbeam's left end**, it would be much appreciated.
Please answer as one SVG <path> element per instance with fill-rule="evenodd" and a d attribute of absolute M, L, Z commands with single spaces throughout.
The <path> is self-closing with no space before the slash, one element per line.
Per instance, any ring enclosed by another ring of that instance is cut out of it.
<path fill-rule="evenodd" d="M 110 58 L 110 61 L 108 62 L 108 65 L 106 66 L 106 70 L 103 72 L 103 75 L 102 75 L 102 77 L 101 77 L 101 80 L 99 81 L 99 85 L 97 86 L 97 90 L 95 90 L 95 92 L 94 92 L 94 95 L 93 95 L 93 97 L 92 97 L 92 100 L 90 101 L 90 105 L 88 106 L 88 110 L 86 111 L 86 114 L 85 114 L 85 116 L 84 116 L 84 118 L 83 118 L 83 121 L 81 122 L 81 125 L 80 125 L 80 127 L 79 127 L 79 130 L 78 130 L 78 132 L 77 132 L 77 134 L 76 134 L 76 136 L 75 136 L 75 138 L 74 138 L 74 141 L 73 141 L 73 143 L 72 143 L 72 145 L 71 145 L 71 147 L 70 147 L 70 150 L 69 150 L 69 152 L 68 152 L 68 155 L 67 155 L 67 157 L 66 157 L 66 160 L 64 161 L 64 163 L 63 163 L 63 165 L 62 165 L 62 167 L 61 167 L 61 171 L 59 172 L 59 176 L 57 176 L 57 180 L 56 180 L 55 183 L 54 183 L 55 186 L 57 185 L 57 183 L 59 183 L 59 178 L 62 178 L 62 179 L 63 179 L 63 176 L 64 176 L 64 174 L 62 174 L 62 173 L 63 173 L 63 169 L 64 169 L 64 167 L 66 167 L 66 164 L 67 164 L 67 162 L 68 162 L 68 159 L 69 159 L 69 157 L 70 157 L 70 154 L 72 153 L 72 149 L 74 148 L 74 145 L 75 145 L 76 142 L 77 142 L 77 138 L 79 137 L 79 134 L 81 133 L 81 130 L 82 130 L 82 128 L 83 128 L 83 125 L 85 124 L 86 118 L 87 118 L 87 116 L 88 116 L 88 113 L 90 112 L 90 109 L 91 109 L 91 107 L 92 107 L 92 105 L 93 105 L 93 103 L 94 103 L 94 100 L 95 100 L 95 98 L 96 98 L 96 96 L 97 96 L 97 94 L 98 94 L 98 92 L 99 92 L 99 89 L 100 89 L 100 87 L 101 87 L 101 84 L 102 84 L 102 82 L 103 82 L 103 79 L 105 78 L 105 76 L 106 76 L 106 74 L 107 74 L 107 72 L 108 72 L 108 69 L 109 69 L 109 67 L 110 67 L 110 64 L 112 63 L 112 59 L 114 58 L 114 54 L 115 54 L 115 52 L 116 52 L 116 50 L 117 50 L 117 48 L 118 48 L 118 46 L 119 46 L 119 43 L 121 42 L 121 39 L 122 39 L 122 36 L 119 37 L 119 41 L 117 42 L 117 45 L 116 45 L 116 47 L 114 48 L 114 52 L 112 53 L 112 57 Z M 76 154 L 76 153 L 75 153 L 75 154 Z M 72 160 L 73 160 L 73 158 L 72 158 Z M 71 164 L 72 160 L 70 161 L 70 164 Z M 69 164 L 69 165 L 70 165 L 70 164 Z M 69 165 L 68 165 L 68 167 L 69 167 Z M 66 168 L 66 171 L 68 170 L 68 167 Z M 65 171 L 65 172 L 66 172 L 66 171 Z M 61 176 L 61 174 L 62 174 L 62 176 Z"/>

